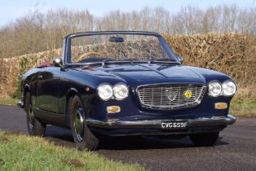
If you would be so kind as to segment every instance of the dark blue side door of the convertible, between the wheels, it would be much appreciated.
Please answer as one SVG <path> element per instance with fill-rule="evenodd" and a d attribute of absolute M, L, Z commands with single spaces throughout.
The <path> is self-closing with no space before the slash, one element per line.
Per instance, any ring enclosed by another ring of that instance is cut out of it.
<path fill-rule="evenodd" d="M 38 73 L 38 108 L 48 112 L 59 112 L 60 68 L 46 67 Z"/>

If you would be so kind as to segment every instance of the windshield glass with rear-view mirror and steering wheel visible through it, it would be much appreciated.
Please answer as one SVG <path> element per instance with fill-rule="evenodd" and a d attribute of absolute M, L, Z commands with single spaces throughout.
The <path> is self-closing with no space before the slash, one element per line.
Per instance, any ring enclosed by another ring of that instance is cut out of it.
<path fill-rule="evenodd" d="M 169 46 L 169 55 L 161 39 L 154 35 L 140 34 L 95 34 L 71 38 L 72 64 L 93 63 L 107 60 L 173 60 Z"/>

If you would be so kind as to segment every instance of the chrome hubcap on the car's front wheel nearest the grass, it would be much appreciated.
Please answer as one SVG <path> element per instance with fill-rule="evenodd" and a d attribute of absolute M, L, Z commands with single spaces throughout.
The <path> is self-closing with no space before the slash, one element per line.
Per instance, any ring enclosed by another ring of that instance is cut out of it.
<path fill-rule="evenodd" d="M 78 142 L 82 142 L 83 135 L 84 135 L 84 119 L 82 117 L 82 107 L 79 107 L 77 109 L 77 112 L 75 113 L 75 118 L 74 118 L 74 129 L 75 133 L 77 135 L 77 140 Z"/>

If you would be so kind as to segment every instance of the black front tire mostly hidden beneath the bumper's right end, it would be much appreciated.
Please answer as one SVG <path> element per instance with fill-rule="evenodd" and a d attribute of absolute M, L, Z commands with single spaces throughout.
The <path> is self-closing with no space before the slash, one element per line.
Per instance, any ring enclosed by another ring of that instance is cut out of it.
<path fill-rule="evenodd" d="M 219 132 L 191 134 L 189 137 L 196 147 L 210 147 L 214 146 L 218 139 L 218 134 Z"/>

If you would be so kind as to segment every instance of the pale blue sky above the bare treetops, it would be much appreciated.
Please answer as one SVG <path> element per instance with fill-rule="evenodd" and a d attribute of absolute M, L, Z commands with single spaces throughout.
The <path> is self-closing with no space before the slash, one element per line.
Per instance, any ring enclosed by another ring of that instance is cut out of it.
<path fill-rule="evenodd" d="M 143 7 L 165 7 L 170 13 L 181 7 L 215 7 L 232 5 L 237 7 L 256 7 L 256 0 L 0 0 L 0 27 L 15 21 L 29 11 L 46 12 L 52 9 L 88 9 L 91 14 L 101 16 L 109 11 L 139 11 Z"/>

